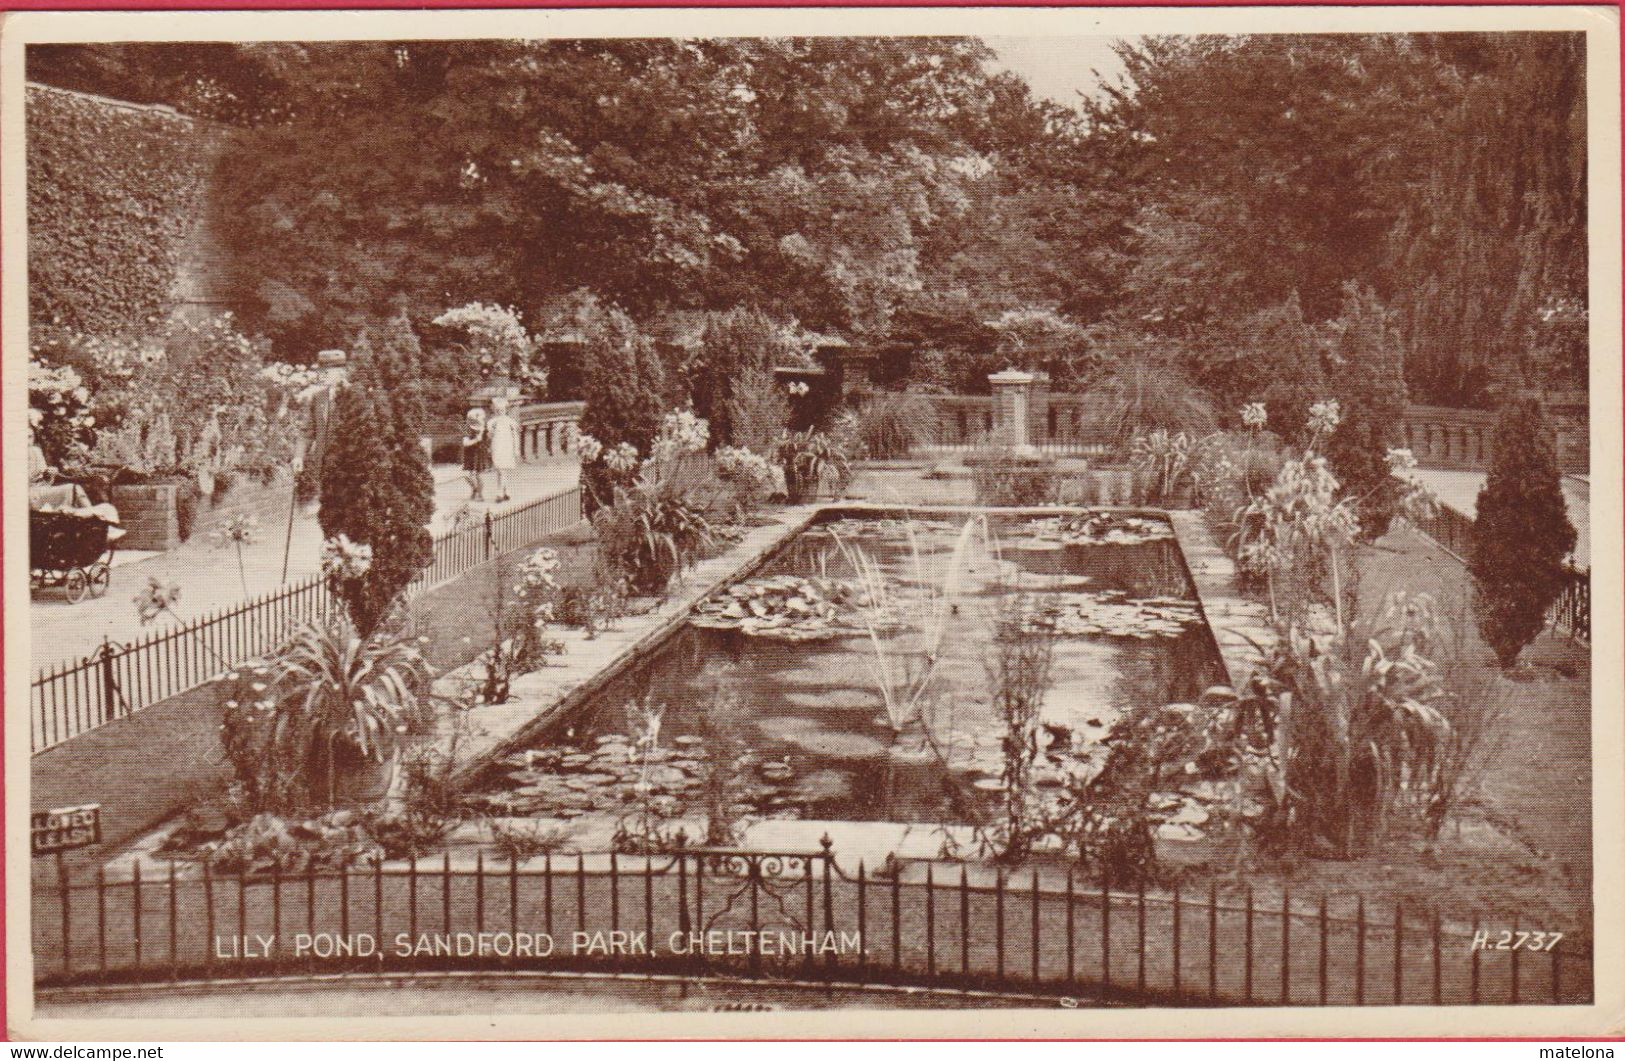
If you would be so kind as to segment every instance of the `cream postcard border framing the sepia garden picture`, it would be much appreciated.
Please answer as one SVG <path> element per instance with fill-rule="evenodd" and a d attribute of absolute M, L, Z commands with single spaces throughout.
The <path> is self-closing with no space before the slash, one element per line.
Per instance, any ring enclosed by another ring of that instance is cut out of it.
<path fill-rule="evenodd" d="M 1588 41 L 1591 210 L 1592 863 L 1596 1004 L 1516 1007 L 1256 1007 L 840 1011 L 348 1017 L 284 1020 L 44 1020 L 32 1017 L 28 837 L 26 229 L 23 47 L 88 41 L 341 41 L 650 36 L 1100 36 L 1144 32 L 1581 31 Z M 0 276 L 6 712 L 6 991 L 13 1038 L 1069 1038 L 1261 1035 L 1602 1035 L 1625 1032 L 1625 642 L 1620 379 L 1618 10 L 1612 6 L 1368 8 L 728 8 L 8 13 L 0 21 Z M 1597 531 L 1602 533 L 1597 533 Z M 1609 533 L 1614 531 L 1614 533 Z M 1612 548 L 1610 548 L 1612 546 Z M 1617 944 L 1610 952 L 1609 944 Z"/>

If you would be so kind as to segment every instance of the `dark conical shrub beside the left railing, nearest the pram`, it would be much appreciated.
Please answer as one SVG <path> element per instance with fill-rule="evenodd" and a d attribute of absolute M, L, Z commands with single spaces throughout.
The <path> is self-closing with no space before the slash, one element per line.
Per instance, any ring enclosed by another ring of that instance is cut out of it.
<path fill-rule="evenodd" d="M 370 634 L 432 557 L 434 478 L 384 395 L 356 383 L 333 403 L 322 463 L 322 535 L 370 549 L 359 569 L 330 574 L 356 629 Z"/>

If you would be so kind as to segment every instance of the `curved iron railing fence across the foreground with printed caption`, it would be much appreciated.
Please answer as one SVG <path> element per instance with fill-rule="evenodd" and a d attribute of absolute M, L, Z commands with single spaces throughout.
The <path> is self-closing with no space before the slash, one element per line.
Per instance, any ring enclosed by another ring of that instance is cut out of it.
<path fill-rule="evenodd" d="M 588 863 L 592 860 L 592 863 Z M 889 863 L 887 869 L 895 869 Z M 1217 1006 L 1581 1004 L 1589 947 L 1363 899 L 1113 890 L 1071 874 L 869 874 L 817 851 L 450 855 L 34 889 L 39 986 L 312 972 L 603 970 Z M 907 879 L 905 879 L 907 876 Z M 1545 928 L 1545 926 L 1542 926 Z"/>

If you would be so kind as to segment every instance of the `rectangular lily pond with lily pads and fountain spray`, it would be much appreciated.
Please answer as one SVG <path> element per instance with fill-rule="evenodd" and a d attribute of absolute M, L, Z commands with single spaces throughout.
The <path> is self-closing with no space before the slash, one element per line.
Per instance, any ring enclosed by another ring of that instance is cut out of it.
<path fill-rule="evenodd" d="M 471 795 L 556 821 L 722 801 L 741 821 L 973 822 L 1001 786 L 990 642 L 1012 601 L 1055 637 L 1040 786 L 1098 769 L 1126 707 L 1224 681 L 1165 520 L 837 517 L 702 601 Z"/>

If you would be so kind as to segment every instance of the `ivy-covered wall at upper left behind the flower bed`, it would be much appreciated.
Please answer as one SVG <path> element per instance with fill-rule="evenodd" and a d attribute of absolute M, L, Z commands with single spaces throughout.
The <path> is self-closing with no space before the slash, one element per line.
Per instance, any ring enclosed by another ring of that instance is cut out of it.
<path fill-rule="evenodd" d="M 28 86 L 36 327 L 114 335 L 167 315 L 210 171 L 208 136 L 167 109 Z"/>

